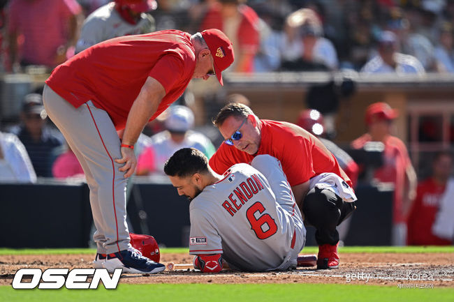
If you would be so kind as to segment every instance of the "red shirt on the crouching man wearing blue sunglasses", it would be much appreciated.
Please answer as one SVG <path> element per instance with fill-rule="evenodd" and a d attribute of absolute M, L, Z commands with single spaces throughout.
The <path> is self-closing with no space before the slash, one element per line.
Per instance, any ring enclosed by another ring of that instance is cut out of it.
<path fill-rule="evenodd" d="M 290 186 L 309 181 L 312 177 L 332 172 L 352 183 L 339 167 L 336 158 L 314 135 L 292 123 L 261 120 L 261 142 L 254 156 L 235 146 L 221 144 L 210 158 L 210 167 L 218 174 L 236 163 L 250 163 L 255 156 L 269 154 L 280 160 Z"/>

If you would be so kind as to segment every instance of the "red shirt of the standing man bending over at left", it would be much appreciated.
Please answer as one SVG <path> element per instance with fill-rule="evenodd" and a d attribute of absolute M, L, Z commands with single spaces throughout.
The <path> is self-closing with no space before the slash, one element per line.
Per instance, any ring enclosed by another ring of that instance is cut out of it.
<path fill-rule="evenodd" d="M 166 96 L 152 121 L 191 81 L 196 54 L 190 38 L 189 33 L 168 30 L 107 40 L 55 68 L 46 84 L 76 108 L 91 100 L 121 130 L 147 77 L 153 77 Z"/>

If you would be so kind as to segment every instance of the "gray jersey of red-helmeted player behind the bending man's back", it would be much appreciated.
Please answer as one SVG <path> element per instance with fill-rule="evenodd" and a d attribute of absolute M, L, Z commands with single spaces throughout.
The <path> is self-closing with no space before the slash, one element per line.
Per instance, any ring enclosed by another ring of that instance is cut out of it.
<path fill-rule="evenodd" d="M 115 3 L 111 2 L 101 6 L 87 17 L 82 25 L 78 43 L 75 45 L 75 52 L 82 52 L 82 50 L 104 40 L 151 33 L 154 28 L 154 18 L 151 15 L 142 13 L 137 24 L 130 24 L 123 20 L 115 10 Z"/>

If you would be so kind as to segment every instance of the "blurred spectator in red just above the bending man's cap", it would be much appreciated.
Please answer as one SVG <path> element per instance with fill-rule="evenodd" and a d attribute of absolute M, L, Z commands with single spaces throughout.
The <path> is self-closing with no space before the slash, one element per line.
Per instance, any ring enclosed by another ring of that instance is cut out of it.
<path fill-rule="evenodd" d="M 259 19 L 256 12 L 243 0 L 219 0 L 207 11 L 200 25 L 204 29 L 220 29 L 232 41 L 235 62 L 230 71 L 251 73 L 254 56 L 260 44 Z"/>

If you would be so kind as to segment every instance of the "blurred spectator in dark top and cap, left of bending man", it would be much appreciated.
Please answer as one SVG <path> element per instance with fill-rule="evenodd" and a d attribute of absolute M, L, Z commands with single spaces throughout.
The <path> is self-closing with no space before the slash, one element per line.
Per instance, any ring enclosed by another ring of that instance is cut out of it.
<path fill-rule="evenodd" d="M 31 163 L 37 176 L 52 177 L 54 149 L 61 147 L 64 139 L 60 133 L 45 125 L 43 96 L 29 93 L 22 105 L 22 124 L 11 129 L 19 137 L 29 153 Z"/>

